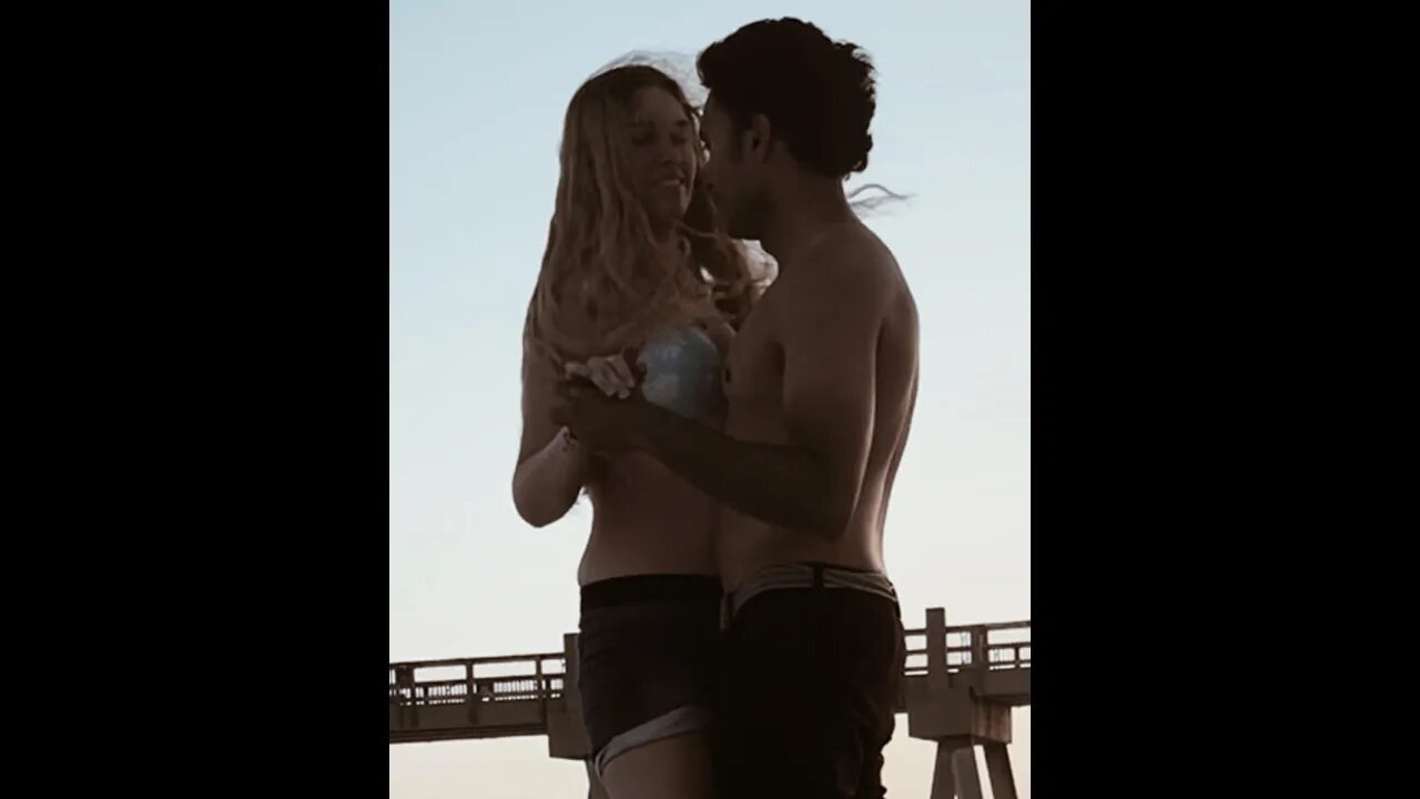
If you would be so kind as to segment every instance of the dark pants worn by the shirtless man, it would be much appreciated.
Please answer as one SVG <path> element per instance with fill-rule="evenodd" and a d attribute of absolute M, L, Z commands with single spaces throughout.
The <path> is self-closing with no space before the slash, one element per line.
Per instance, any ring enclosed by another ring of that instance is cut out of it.
<path fill-rule="evenodd" d="M 880 799 L 906 665 L 897 603 L 852 589 L 748 599 L 723 641 L 720 799 Z"/>

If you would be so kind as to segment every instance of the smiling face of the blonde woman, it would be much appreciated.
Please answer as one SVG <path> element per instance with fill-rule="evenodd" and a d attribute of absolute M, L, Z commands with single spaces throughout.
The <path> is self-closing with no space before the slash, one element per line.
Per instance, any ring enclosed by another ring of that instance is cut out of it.
<path fill-rule="evenodd" d="M 646 87 L 630 100 L 630 179 L 653 223 L 673 222 L 690 206 L 696 131 L 680 101 Z"/>

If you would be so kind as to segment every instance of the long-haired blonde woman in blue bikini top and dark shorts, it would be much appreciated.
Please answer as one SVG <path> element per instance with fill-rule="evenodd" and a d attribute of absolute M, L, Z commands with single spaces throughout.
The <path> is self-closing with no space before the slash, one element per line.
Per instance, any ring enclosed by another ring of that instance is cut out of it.
<path fill-rule="evenodd" d="M 561 519 L 586 490 L 581 584 L 582 712 L 612 799 L 709 798 L 707 726 L 719 638 L 714 503 L 639 454 L 585 451 L 551 421 L 557 382 L 621 397 L 636 355 L 677 370 L 663 404 L 719 424 L 719 358 L 748 313 L 744 253 L 714 229 L 704 149 L 680 85 L 618 67 L 572 95 L 557 206 L 524 327 L 518 513 Z M 622 354 L 626 354 L 625 357 Z M 690 378 L 697 388 L 686 388 Z M 649 400 L 650 385 L 645 387 Z"/>

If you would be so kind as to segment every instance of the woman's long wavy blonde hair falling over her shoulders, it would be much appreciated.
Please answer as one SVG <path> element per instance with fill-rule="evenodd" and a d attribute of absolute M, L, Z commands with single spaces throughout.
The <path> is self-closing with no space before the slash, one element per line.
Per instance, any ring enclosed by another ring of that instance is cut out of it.
<path fill-rule="evenodd" d="M 744 250 L 717 226 L 696 169 L 673 245 L 657 242 L 626 173 L 632 95 L 670 92 L 699 125 L 672 77 L 645 64 L 594 75 L 577 90 L 562 125 L 561 175 L 547 250 L 524 324 L 524 344 L 561 364 L 635 347 L 657 324 L 750 311 L 760 286 Z M 696 162 L 706 152 L 699 136 Z"/>

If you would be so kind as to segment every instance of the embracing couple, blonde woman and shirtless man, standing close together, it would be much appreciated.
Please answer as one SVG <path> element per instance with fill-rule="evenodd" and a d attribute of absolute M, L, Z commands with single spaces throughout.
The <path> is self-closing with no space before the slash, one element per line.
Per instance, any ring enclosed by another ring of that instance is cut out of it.
<path fill-rule="evenodd" d="M 594 508 L 578 668 L 611 799 L 883 796 L 917 311 L 843 192 L 873 68 L 794 18 L 696 67 L 703 108 L 650 65 L 568 105 L 514 500 L 534 526 Z"/>

